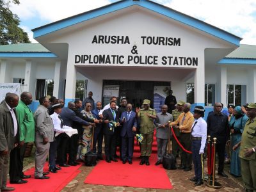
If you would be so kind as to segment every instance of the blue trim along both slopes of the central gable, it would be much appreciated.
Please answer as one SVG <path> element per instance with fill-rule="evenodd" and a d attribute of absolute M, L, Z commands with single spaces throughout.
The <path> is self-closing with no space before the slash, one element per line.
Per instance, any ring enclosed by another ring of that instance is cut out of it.
<path fill-rule="evenodd" d="M 195 18 L 185 15 L 183 13 L 172 10 L 171 8 L 168 8 L 161 4 L 157 4 L 157 3 L 154 3 L 152 1 L 147 1 L 147 0 L 118 1 L 116 3 L 109 4 L 107 6 L 103 6 L 101 8 L 97 8 L 97 9 L 89 11 L 89 12 L 81 13 L 79 15 L 75 15 L 75 16 L 69 17 L 67 19 L 53 22 L 46 26 L 42 26 L 40 28 L 33 29 L 32 30 L 34 32 L 33 37 L 37 38 L 39 36 L 46 35 L 48 33 L 52 33 L 53 31 L 57 31 L 62 28 L 67 28 L 68 26 L 72 26 L 79 22 L 84 22 L 86 20 L 90 20 L 95 17 L 105 15 L 107 13 L 122 10 L 122 9 L 132 6 L 134 4 L 138 4 L 143 8 L 147 8 L 148 10 L 151 10 L 153 12 L 159 13 L 166 17 L 170 17 L 171 19 L 175 19 L 175 20 L 182 22 L 182 23 L 184 23 L 188 26 L 191 26 L 193 28 L 199 29 L 201 31 L 205 31 L 205 33 L 209 33 L 210 35 L 221 38 L 221 39 L 223 39 L 227 42 L 230 42 L 232 44 L 235 44 L 237 46 L 240 45 L 240 41 L 242 38 L 240 38 L 238 36 L 232 35 L 231 33 L 228 33 L 227 31 L 224 31 L 222 29 L 211 26 L 210 24 L 202 22 L 202 20 L 195 19 Z"/>

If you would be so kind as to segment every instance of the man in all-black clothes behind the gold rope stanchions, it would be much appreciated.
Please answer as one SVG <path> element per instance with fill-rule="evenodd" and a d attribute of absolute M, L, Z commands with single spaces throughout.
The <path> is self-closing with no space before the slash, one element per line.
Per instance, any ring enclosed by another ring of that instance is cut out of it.
<path fill-rule="evenodd" d="M 221 112 L 220 102 L 214 104 L 214 111 L 207 116 L 207 135 L 217 138 L 216 153 L 218 154 L 218 175 L 228 177 L 224 173 L 225 147 L 229 137 L 228 116 Z"/>

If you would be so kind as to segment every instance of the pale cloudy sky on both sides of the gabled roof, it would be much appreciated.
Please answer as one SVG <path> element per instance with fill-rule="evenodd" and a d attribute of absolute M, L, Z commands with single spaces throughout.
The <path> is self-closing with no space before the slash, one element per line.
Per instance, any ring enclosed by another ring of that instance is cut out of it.
<path fill-rule="evenodd" d="M 241 44 L 256 45 L 255 0 L 153 0 L 243 38 Z M 31 29 L 99 8 L 115 0 L 20 0 L 11 6 L 20 28 L 33 39 Z"/>

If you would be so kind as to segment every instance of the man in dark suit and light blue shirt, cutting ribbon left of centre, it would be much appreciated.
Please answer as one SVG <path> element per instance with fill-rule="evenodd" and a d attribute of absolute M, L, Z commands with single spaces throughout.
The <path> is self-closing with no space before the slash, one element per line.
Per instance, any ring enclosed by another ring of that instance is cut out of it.
<path fill-rule="evenodd" d="M 117 127 L 111 127 L 109 122 L 115 121 L 117 122 L 117 126 L 119 126 L 119 120 L 116 116 L 116 102 L 110 102 L 110 108 L 106 109 L 102 113 L 103 115 L 103 122 L 104 122 L 104 138 L 105 138 L 105 155 L 106 161 L 111 163 L 111 161 L 117 162 L 115 158 L 115 147 L 116 147 L 116 129 Z"/>

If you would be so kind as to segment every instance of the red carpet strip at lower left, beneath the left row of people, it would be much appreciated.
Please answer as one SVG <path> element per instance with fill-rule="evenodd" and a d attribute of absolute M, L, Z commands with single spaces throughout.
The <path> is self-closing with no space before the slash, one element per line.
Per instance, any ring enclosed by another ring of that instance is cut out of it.
<path fill-rule="evenodd" d="M 50 173 L 49 177 L 50 179 L 35 179 L 34 178 L 34 171 L 35 168 L 31 168 L 27 172 L 25 172 L 25 175 L 31 175 L 31 178 L 26 179 L 28 180 L 28 183 L 26 184 L 10 184 L 8 182 L 8 187 L 15 188 L 15 191 L 20 192 L 40 192 L 40 191 L 46 191 L 46 192 L 52 192 L 52 191 L 61 191 L 72 179 L 76 177 L 77 174 L 79 174 L 81 171 L 78 170 L 79 167 L 81 167 L 82 164 L 77 166 L 70 166 L 70 167 L 63 167 L 58 173 Z M 47 163 L 45 163 L 45 172 L 47 171 Z"/>

